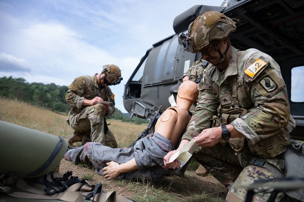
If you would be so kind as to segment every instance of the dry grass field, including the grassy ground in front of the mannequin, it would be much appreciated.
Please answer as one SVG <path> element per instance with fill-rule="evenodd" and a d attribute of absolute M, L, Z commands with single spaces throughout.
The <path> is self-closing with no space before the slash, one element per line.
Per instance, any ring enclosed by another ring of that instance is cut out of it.
<path fill-rule="evenodd" d="M 0 120 L 31 128 L 37 131 L 68 138 L 73 134 L 67 124 L 65 114 L 54 113 L 29 103 L 0 98 Z M 129 146 L 147 127 L 147 124 L 135 125 L 120 120 L 107 120 L 109 128 L 117 139 L 119 147 Z M 76 143 L 74 143 L 74 146 Z M 73 171 L 73 176 L 79 179 L 90 179 L 94 183 L 102 183 L 103 190 L 137 201 L 205 201 L 220 202 L 225 200 L 225 187 L 210 174 L 201 177 L 192 170 L 187 170 L 185 176 L 167 176 L 157 182 L 141 180 L 105 180 L 96 174 L 93 168 L 85 165 L 75 165 L 65 159 L 61 160 L 60 174 Z"/>

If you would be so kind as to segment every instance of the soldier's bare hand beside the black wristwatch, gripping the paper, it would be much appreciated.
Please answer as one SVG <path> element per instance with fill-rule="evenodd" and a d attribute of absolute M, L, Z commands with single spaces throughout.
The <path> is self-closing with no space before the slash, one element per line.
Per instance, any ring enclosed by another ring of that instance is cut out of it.
<path fill-rule="evenodd" d="M 196 143 L 201 147 L 212 147 L 222 139 L 222 128 L 205 129 L 193 139 L 196 139 Z"/>

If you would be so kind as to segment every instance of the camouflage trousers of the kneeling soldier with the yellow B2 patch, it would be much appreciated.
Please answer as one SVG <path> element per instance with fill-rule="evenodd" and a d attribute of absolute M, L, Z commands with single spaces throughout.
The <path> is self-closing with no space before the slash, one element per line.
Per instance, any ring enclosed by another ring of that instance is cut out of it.
<path fill-rule="evenodd" d="M 244 144 L 239 152 L 234 151 L 228 144 L 216 144 L 213 147 L 198 147 L 193 155 L 202 166 L 204 166 L 220 183 L 228 187 L 232 184 L 228 195 L 227 202 L 243 202 L 246 199 L 249 184 L 258 180 L 268 180 L 269 184 L 277 183 L 280 180 L 266 168 L 248 165 L 250 159 L 258 158 L 267 161 L 280 169 L 279 159 L 263 159 L 255 156 L 250 149 Z M 267 201 L 272 190 L 265 187 L 255 190 L 253 201 Z M 284 193 L 279 193 L 276 201 L 283 197 Z"/>

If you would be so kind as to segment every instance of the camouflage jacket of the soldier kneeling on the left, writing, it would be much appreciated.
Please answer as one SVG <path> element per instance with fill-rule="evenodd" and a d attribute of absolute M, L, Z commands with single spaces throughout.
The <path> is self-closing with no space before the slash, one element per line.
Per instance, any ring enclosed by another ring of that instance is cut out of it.
<path fill-rule="evenodd" d="M 93 76 L 80 76 L 76 78 L 72 84 L 69 85 L 65 100 L 71 106 L 69 110 L 73 113 L 79 113 L 81 108 L 85 107 L 82 106 L 84 99 L 92 100 L 97 94 L 104 101 L 110 102 L 107 116 L 112 115 L 115 111 L 114 94 L 108 86 L 99 87 L 96 80 L 96 74 Z"/>

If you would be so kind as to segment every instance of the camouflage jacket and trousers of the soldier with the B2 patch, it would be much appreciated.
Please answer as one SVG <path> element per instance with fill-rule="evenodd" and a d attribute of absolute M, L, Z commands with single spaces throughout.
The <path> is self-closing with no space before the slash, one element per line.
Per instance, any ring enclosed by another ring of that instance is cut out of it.
<path fill-rule="evenodd" d="M 223 72 L 208 65 L 210 70 L 198 87 L 196 111 L 182 137 L 191 140 L 206 128 L 229 123 L 245 136 L 221 140 L 213 147 L 198 147 L 194 154 L 222 184 L 233 183 L 226 201 L 244 201 L 246 183 L 260 179 L 279 181 L 266 168 L 248 166 L 248 162 L 257 158 L 282 170 L 278 155 L 285 152 L 289 133 L 295 127 L 278 64 L 256 49 L 237 52 L 232 47 L 229 66 Z M 270 194 L 271 190 L 262 190 L 254 200 L 265 201 Z"/>

